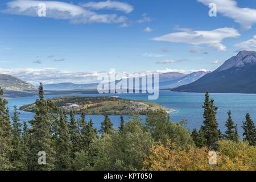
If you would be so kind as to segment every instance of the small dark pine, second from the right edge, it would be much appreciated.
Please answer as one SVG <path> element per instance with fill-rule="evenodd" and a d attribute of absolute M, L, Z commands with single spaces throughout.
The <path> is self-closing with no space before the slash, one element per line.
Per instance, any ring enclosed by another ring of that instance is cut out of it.
<path fill-rule="evenodd" d="M 234 125 L 231 117 L 231 111 L 228 111 L 229 118 L 226 121 L 225 126 L 227 130 L 225 131 L 224 138 L 227 140 L 232 140 L 233 142 L 238 142 L 238 133 L 237 133 L 237 126 Z"/>

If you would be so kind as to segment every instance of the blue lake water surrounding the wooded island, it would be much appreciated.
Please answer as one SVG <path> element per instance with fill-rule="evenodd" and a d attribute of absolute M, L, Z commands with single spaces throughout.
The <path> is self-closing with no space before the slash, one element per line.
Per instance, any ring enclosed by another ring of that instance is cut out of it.
<path fill-rule="evenodd" d="M 57 95 L 57 96 L 46 96 L 46 98 L 71 96 L 71 95 Z M 133 99 L 133 100 L 144 100 L 148 101 L 147 94 L 77 94 L 72 96 L 119 96 L 121 98 Z M 35 102 L 37 97 L 24 97 L 14 98 L 8 100 L 10 115 L 13 115 L 13 107 L 16 105 L 20 107 L 22 105 L 31 104 Z M 210 98 L 214 99 L 214 104 L 218 107 L 217 121 L 222 133 L 225 131 L 225 122 L 228 118 L 227 112 L 232 111 L 233 121 L 238 126 L 238 133 L 242 135 L 242 121 L 245 121 L 246 113 L 251 114 L 251 118 L 255 121 L 256 119 L 256 94 L 230 94 L 230 93 L 211 93 Z M 171 120 L 173 122 L 179 122 L 181 119 L 188 119 L 188 125 L 190 129 L 199 129 L 203 123 L 203 102 L 204 93 L 177 93 L 170 92 L 169 90 L 160 90 L 158 100 L 151 100 L 158 104 L 162 104 L 168 109 L 177 110 L 176 113 L 171 113 Z M 33 118 L 33 113 L 20 111 L 19 118 L 21 121 L 29 121 Z M 76 115 L 79 118 L 79 115 Z M 119 115 L 110 115 L 110 119 L 113 122 L 114 127 L 118 127 L 120 123 Z M 86 115 L 86 121 L 92 118 L 94 127 L 100 129 L 101 122 L 104 120 L 103 115 Z M 126 121 L 129 117 L 124 116 Z M 142 116 L 142 118 L 145 118 Z"/>

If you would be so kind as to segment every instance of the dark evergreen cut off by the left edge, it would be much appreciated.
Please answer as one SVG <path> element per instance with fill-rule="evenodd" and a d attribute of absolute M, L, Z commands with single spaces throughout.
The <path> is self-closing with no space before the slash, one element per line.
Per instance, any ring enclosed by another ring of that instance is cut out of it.
<path fill-rule="evenodd" d="M 0 87 L 0 96 L 3 96 L 3 90 Z M 11 122 L 9 110 L 6 107 L 8 102 L 0 97 L 0 171 L 10 169 L 11 148 Z"/>

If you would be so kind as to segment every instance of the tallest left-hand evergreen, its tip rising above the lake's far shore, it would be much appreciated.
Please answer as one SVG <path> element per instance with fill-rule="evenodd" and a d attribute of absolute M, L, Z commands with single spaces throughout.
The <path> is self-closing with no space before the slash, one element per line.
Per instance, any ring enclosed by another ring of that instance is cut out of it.
<path fill-rule="evenodd" d="M 35 115 L 29 121 L 31 130 L 31 170 L 48 171 L 55 169 L 55 146 L 52 142 L 52 122 L 54 121 L 54 111 L 57 106 L 50 100 L 44 100 L 43 85 L 40 83 L 39 100 L 35 102 Z M 46 152 L 46 164 L 39 164 L 39 151 Z"/>

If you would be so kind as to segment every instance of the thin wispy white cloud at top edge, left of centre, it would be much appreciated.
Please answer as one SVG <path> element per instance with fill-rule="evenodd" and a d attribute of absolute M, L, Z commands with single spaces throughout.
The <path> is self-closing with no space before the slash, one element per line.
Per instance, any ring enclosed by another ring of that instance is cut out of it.
<path fill-rule="evenodd" d="M 101 9 L 114 9 L 118 11 L 124 11 L 125 13 L 131 13 L 133 11 L 133 6 L 128 3 L 118 2 L 118 1 L 101 1 L 101 2 L 88 2 L 82 4 L 83 7 L 90 7 L 94 10 Z"/>

